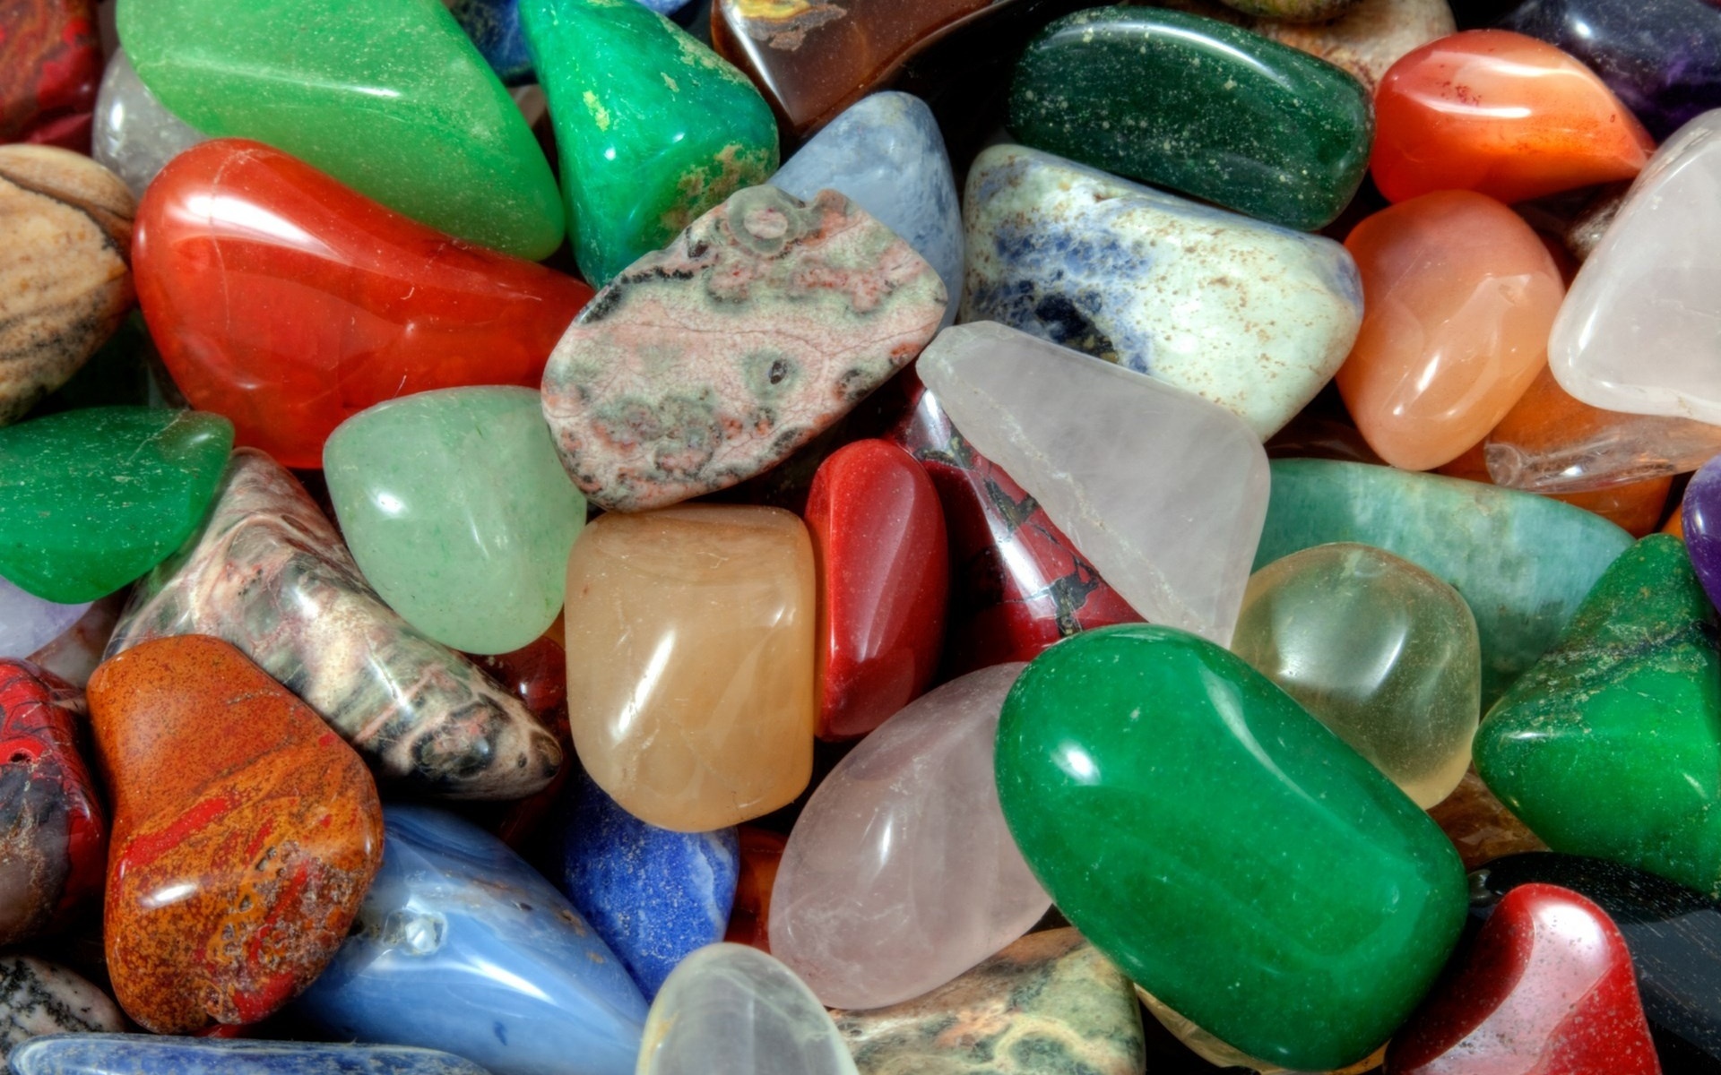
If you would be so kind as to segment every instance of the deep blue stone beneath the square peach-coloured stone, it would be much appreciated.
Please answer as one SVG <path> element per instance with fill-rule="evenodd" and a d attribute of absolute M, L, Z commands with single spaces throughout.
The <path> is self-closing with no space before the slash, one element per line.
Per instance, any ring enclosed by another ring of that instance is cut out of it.
<path fill-rule="evenodd" d="M 723 939 L 740 875 L 735 829 L 649 826 L 582 774 L 568 783 L 561 851 L 561 891 L 647 998 L 692 951 Z"/>

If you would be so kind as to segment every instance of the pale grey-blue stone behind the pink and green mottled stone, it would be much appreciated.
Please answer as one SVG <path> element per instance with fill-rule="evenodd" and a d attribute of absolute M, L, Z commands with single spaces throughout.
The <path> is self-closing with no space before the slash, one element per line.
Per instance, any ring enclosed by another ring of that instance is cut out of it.
<path fill-rule="evenodd" d="M 771 186 L 811 201 L 821 189 L 852 198 L 926 258 L 950 292 L 945 323 L 962 298 L 962 210 L 950 155 L 933 110 L 907 93 L 874 93 L 845 108 Z"/>

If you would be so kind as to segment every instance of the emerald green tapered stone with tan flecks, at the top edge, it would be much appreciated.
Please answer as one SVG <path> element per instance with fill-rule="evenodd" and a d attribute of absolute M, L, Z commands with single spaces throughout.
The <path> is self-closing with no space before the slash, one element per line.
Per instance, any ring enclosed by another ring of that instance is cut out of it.
<path fill-rule="evenodd" d="M 520 0 L 520 21 L 594 286 L 776 172 L 771 107 L 675 22 L 635 0 Z"/>

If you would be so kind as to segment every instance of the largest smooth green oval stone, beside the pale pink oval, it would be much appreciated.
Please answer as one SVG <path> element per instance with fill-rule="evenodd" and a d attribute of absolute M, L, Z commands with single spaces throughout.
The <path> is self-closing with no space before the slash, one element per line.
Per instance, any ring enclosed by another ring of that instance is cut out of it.
<path fill-rule="evenodd" d="M 1127 624 L 1015 681 L 998 800 L 1058 910 L 1251 1056 L 1344 1066 L 1458 939 L 1465 870 L 1428 815 L 1217 645 Z"/>

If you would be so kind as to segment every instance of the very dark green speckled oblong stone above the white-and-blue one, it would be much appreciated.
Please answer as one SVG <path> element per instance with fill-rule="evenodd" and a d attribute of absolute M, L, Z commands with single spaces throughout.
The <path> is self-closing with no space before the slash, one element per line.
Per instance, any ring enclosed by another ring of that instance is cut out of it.
<path fill-rule="evenodd" d="M 1036 150 L 1317 229 L 1349 205 L 1373 139 L 1348 72 L 1201 15 L 1095 7 L 1022 53 L 1010 129 Z"/>

